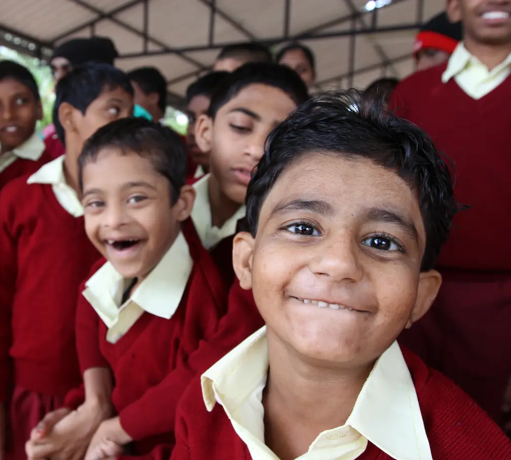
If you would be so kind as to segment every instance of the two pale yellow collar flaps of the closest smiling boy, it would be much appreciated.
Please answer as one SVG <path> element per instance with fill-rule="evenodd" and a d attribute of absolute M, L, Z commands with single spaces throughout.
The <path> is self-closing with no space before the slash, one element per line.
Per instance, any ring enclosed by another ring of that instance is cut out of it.
<path fill-rule="evenodd" d="M 268 372 L 266 328 L 248 337 L 201 377 L 208 411 L 239 406 Z M 377 360 L 346 421 L 395 460 L 432 460 L 413 381 L 397 342 Z"/>

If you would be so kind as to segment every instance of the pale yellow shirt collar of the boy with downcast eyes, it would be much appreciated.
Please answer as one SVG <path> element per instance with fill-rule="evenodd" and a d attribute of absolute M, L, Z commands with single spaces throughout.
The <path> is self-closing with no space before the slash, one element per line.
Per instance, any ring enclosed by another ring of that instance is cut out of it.
<path fill-rule="evenodd" d="M 202 245 L 207 250 L 210 250 L 224 238 L 234 235 L 236 232 L 236 224 L 238 220 L 245 217 L 246 210 L 245 206 L 240 206 L 240 209 L 222 225 L 222 228 L 213 226 L 211 223 L 210 196 L 207 187 L 208 180 L 210 180 L 210 175 L 206 174 L 193 185 L 196 197 L 192 210 L 192 220 Z"/>

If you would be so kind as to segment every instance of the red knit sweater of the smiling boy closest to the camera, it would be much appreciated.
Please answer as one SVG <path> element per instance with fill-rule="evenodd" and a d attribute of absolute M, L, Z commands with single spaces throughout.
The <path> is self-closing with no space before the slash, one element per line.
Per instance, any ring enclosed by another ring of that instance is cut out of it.
<path fill-rule="evenodd" d="M 429 369 L 407 350 L 403 354 L 419 398 L 431 453 L 435 460 L 509 460 L 511 443 L 489 417 L 454 383 Z M 385 423 L 384 420 L 381 423 Z M 171 460 L 249 460 L 223 407 L 207 412 L 200 380 L 184 393 L 177 413 L 176 446 Z M 391 460 L 368 443 L 360 460 Z"/>

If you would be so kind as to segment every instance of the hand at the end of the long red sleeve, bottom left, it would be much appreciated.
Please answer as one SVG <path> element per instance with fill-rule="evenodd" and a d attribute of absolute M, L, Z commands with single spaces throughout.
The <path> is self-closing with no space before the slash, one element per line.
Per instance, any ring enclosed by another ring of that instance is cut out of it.
<path fill-rule="evenodd" d="M 105 420 L 92 437 L 85 460 L 105 460 L 122 453 L 122 446 L 133 441 L 121 426 L 119 417 Z"/>

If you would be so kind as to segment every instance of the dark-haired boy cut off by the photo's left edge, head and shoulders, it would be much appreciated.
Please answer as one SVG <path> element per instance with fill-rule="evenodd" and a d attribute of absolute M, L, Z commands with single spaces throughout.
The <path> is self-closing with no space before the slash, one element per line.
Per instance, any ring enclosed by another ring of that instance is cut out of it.
<path fill-rule="evenodd" d="M 16 62 L 0 61 L 0 190 L 52 159 L 36 133 L 41 118 L 41 98 L 33 75 Z"/>

